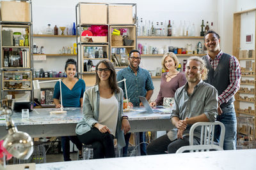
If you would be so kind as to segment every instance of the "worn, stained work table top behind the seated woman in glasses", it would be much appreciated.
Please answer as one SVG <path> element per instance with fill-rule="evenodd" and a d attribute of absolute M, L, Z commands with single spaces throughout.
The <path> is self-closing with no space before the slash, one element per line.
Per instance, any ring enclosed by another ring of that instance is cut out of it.
<path fill-rule="evenodd" d="M 77 124 L 83 118 L 82 108 L 64 108 L 67 113 L 51 114 L 56 108 L 40 108 L 29 112 L 29 119 L 22 119 L 21 112 L 14 112 L 12 120 L 15 125 L 44 125 L 44 124 Z M 147 113 L 144 108 L 135 107 L 132 111 L 124 112 L 129 120 L 153 120 L 170 118 L 170 108 L 157 108 L 159 113 Z M 5 126 L 5 120 L 0 120 L 0 126 Z"/>

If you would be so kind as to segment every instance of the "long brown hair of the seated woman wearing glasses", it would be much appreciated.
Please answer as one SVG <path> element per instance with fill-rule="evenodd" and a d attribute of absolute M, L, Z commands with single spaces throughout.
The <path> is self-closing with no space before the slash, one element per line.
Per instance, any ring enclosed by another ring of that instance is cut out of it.
<path fill-rule="evenodd" d="M 100 60 L 100 62 L 98 62 L 98 64 L 96 65 L 96 71 L 98 70 L 98 66 L 100 65 L 100 63 L 105 64 L 106 67 L 108 67 L 108 69 L 110 69 L 110 76 L 109 76 L 109 87 L 112 90 L 112 93 L 116 92 L 119 93 L 120 90 L 118 88 L 117 82 L 116 82 L 116 71 L 115 71 L 115 67 L 113 66 L 113 64 L 109 61 L 109 60 Z M 99 75 L 96 73 L 96 84 L 95 85 L 99 85 L 100 83 L 100 78 Z"/>

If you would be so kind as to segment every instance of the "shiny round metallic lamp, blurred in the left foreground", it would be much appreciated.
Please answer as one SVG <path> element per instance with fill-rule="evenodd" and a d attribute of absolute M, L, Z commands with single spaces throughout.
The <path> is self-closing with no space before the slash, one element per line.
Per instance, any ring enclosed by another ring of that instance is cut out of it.
<path fill-rule="evenodd" d="M 3 138 L 3 147 L 17 159 L 28 159 L 34 150 L 33 140 L 26 132 L 18 131 L 11 118 L 12 110 L 5 104 L 3 105 L 0 108 L 0 115 L 6 116 L 6 130 L 8 130 L 8 134 Z M 3 163 L 5 166 L 5 155 Z"/>

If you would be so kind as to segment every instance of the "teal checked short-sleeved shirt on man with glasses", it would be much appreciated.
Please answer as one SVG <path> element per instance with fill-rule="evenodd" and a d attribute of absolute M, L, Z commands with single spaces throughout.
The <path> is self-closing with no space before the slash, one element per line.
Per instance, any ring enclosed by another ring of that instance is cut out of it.
<path fill-rule="evenodd" d="M 139 96 L 146 96 L 148 90 L 154 90 L 151 76 L 146 69 L 138 67 L 137 74 L 135 74 L 128 66 L 117 73 L 117 81 L 124 78 L 126 79 L 127 96 L 133 106 L 140 106 Z M 119 83 L 119 87 L 124 90 L 126 99 L 124 81 Z"/>

